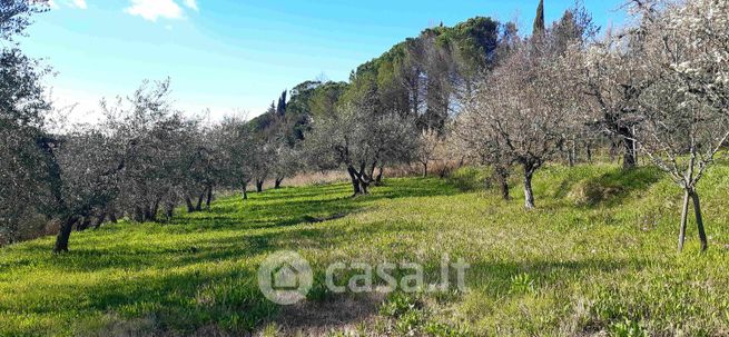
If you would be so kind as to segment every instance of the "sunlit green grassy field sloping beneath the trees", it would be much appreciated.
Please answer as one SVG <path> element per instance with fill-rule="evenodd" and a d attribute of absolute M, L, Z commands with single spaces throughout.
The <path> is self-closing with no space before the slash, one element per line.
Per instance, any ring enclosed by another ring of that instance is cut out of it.
<path fill-rule="evenodd" d="M 75 232 L 67 255 L 50 254 L 52 238 L 2 248 L 0 335 L 729 335 L 729 167 L 700 186 L 706 255 L 693 227 L 676 252 L 681 194 L 652 169 L 546 168 L 534 211 L 519 186 L 512 201 L 469 191 L 477 176 L 390 179 L 356 199 L 347 185 L 270 190 L 174 224 Z M 259 262 L 279 249 L 316 274 L 295 307 L 258 290 Z M 467 291 L 323 287 L 331 262 L 414 261 L 437 274 L 443 254 L 471 264 Z"/>

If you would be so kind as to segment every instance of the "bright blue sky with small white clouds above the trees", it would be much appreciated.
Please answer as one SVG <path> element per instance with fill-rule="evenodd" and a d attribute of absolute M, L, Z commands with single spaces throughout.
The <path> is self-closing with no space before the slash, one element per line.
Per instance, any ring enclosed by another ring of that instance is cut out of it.
<path fill-rule="evenodd" d="M 545 0 L 546 21 L 574 0 Z M 622 0 L 584 0 L 598 26 L 620 26 Z M 175 106 L 210 119 L 263 113 L 311 79 L 347 80 L 358 65 L 443 22 L 482 16 L 531 31 L 538 0 L 51 0 L 21 48 L 55 70 L 57 106 L 77 121 L 101 98 L 171 79 Z"/>

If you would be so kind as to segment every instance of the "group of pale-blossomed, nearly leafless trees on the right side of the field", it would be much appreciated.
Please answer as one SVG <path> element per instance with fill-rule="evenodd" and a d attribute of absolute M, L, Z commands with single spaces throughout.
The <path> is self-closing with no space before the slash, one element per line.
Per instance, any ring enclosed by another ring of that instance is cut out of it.
<path fill-rule="evenodd" d="M 625 7 L 634 22 L 600 39 L 580 7 L 549 29 L 540 10 L 532 36 L 508 47 L 454 129 L 504 184 L 521 167 L 526 208 L 535 207 L 531 179 L 544 163 L 565 148 L 572 162 L 578 142 L 617 139 L 624 169 L 641 152 L 683 189 L 679 250 L 690 204 L 706 250 L 697 187 L 729 137 L 729 1 Z"/>

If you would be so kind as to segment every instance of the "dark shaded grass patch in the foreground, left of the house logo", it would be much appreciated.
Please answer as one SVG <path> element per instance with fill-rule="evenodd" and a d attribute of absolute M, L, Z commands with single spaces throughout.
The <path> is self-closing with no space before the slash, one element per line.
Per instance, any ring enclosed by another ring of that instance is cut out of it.
<path fill-rule="evenodd" d="M 151 317 L 150 336 L 193 334 L 217 326 L 245 334 L 257 328 L 278 308 L 258 290 L 256 271 L 185 270 L 145 277 L 144 283 L 114 280 L 78 289 L 85 309 L 112 311 L 121 319 Z M 49 308 L 55 309 L 55 308 Z"/>

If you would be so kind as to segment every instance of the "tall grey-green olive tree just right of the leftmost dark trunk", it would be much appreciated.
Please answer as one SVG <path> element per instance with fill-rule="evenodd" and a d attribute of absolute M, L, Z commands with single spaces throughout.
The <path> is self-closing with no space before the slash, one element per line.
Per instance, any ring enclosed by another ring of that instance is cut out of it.
<path fill-rule="evenodd" d="M 145 81 L 130 97 L 117 98 L 114 105 L 102 102 L 104 126 L 125 161 L 119 205 L 136 221 L 156 221 L 160 207 L 174 204 L 175 187 L 185 187 L 190 174 L 201 175 L 195 182 L 201 180 L 205 188 L 211 184 L 206 148 L 193 153 L 201 157 L 183 166 L 181 155 L 189 152 L 187 137 L 194 128 L 173 110 L 169 92 L 169 80 Z"/>

